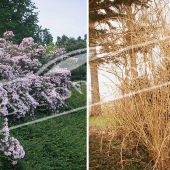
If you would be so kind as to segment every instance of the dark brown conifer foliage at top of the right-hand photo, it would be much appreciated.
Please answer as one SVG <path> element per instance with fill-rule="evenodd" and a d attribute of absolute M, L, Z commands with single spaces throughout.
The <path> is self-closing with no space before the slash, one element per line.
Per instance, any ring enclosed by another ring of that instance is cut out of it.
<path fill-rule="evenodd" d="M 94 24 L 104 23 L 110 28 L 114 28 L 110 21 L 116 20 L 117 17 L 126 17 L 126 13 L 122 13 L 123 5 L 131 6 L 132 4 L 148 7 L 150 0 L 90 0 L 89 1 L 89 41 L 96 43 L 98 37 L 107 36 L 106 29 L 96 29 Z"/>

